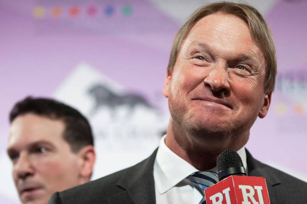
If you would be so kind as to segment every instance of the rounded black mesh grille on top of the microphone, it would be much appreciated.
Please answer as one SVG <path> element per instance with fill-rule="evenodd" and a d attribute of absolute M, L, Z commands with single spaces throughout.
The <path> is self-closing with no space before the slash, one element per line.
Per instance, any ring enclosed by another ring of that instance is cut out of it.
<path fill-rule="evenodd" d="M 217 172 L 221 172 L 231 167 L 243 167 L 243 162 L 235 150 L 227 149 L 217 157 L 216 167 Z"/>

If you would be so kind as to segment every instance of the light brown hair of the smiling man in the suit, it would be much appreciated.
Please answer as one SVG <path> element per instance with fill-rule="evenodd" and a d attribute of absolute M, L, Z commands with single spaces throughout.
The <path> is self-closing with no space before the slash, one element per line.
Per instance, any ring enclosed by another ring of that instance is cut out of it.
<path fill-rule="evenodd" d="M 268 24 L 257 9 L 244 3 L 215 2 L 199 7 L 194 13 L 192 13 L 176 34 L 169 57 L 169 64 L 167 67 L 168 73 L 172 73 L 181 45 L 185 41 L 185 38 L 188 36 L 192 27 L 203 17 L 214 13 L 232 14 L 246 22 L 255 44 L 262 51 L 265 58 L 266 74 L 264 90 L 266 93 L 273 92 L 277 74 L 276 52 L 273 36 Z"/>

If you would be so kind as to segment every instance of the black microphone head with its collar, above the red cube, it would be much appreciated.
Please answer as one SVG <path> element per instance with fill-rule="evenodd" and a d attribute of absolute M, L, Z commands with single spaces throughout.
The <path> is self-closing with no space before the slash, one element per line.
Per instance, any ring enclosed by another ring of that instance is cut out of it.
<path fill-rule="evenodd" d="M 217 157 L 216 167 L 219 181 L 231 175 L 246 175 L 242 159 L 233 149 L 227 149 Z"/>

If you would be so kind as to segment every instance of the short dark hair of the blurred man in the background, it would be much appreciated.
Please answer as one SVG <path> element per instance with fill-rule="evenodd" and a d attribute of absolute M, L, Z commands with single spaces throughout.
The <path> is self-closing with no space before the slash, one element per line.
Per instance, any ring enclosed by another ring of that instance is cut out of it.
<path fill-rule="evenodd" d="M 94 145 L 91 126 L 87 119 L 76 109 L 49 98 L 26 97 L 17 102 L 10 112 L 10 123 L 26 113 L 34 113 L 50 119 L 62 120 L 65 124 L 63 138 L 72 152 L 78 152 L 86 145 Z"/>

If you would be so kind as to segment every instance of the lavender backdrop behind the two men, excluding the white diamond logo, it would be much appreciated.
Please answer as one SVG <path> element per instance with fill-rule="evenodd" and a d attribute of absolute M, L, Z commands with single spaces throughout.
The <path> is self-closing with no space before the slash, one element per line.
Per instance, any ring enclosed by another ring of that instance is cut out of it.
<path fill-rule="evenodd" d="M 307 181 L 307 1 L 247 2 L 263 12 L 273 32 L 278 80 L 269 114 L 256 121 L 246 147 L 260 161 Z M 39 5 L 45 15 L 37 18 Z M 63 8 L 58 18 L 51 14 L 56 5 Z M 69 14 L 73 5 L 80 8 L 76 17 Z M 202 1 L 1 0 L 0 203 L 19 203 L 5 152 L 8 113 L 16 101 L 28 95 L 57 97 L 78 64 L 86 62 L 167 115 L 162 88 L 172 40 L 199 5 Z M 90 6 L 96 8 L 93 16 L 86 12 Z M 148 147 L 118 169 L 146 158 L 154 149 Z M 95 178 L 107 173 L 96 172 Z"/>

